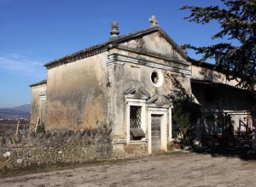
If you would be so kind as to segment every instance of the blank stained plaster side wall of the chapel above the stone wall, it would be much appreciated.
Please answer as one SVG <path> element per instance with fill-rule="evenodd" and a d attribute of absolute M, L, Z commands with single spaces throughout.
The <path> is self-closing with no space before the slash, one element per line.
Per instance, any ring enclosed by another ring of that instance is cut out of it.
<path fill-rule="evenodd" d="M 107 53 L 48 71 L 46 129 L 96 128 L 107 120 Z"/>

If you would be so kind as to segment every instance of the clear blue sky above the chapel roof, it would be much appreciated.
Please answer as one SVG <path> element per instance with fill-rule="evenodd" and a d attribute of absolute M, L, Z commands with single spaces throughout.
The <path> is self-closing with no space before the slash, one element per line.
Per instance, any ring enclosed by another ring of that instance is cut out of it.
<path fill-rule="evenodd" d="M 218 0 L 0 0 L 0 107 L 31 101 L 33 82 L 46 78 L 44 64 L 109 39 L 110 23 L 119 21 L 120 35 L 159 25 L 178 44 L 211 44 L 218 24 L 183 20 L 185 4 L 218 5 Z M 215 41 L 218 42 L 218 41 Z M 191 57 L 195 54 L 189 52 Z"/>

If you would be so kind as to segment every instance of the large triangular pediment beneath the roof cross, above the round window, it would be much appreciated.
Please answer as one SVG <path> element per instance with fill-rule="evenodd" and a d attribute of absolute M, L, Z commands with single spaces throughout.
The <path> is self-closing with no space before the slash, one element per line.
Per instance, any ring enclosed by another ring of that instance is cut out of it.
<path fill-rule="evenodd" d="M 119 46 L 185 61 L 187 55 L 160 27 L 138 31 L 115 41 Z"/>

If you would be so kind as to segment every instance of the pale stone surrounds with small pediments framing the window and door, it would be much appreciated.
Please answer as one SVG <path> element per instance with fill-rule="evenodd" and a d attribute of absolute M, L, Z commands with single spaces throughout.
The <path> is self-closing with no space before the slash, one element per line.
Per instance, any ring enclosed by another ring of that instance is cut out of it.
<path fill-rule="evenodd" d="M 168 140 L 172 141 L 172 103 L 164 95 L 154 95 L 149 99 L 149 94 L 144 89 L 130 88 L 125 91 L 125 125 L 126 143 L 131 143 L 130 139 L 130 107 L 141 106 L 141 128 L 146 133 L 148 140 L 148 153 L 152 153 L 151 139 L 151 116 L 160 115 L 160 150 L 167 151 Z M 169 139 L 168 139 L 169 137 Z M 137 140 L 136 142 L 143 142 Z M 133 141 L 132 141 L 133 142 Z M 144 141 L 145 142 L 145 141 Z"/>

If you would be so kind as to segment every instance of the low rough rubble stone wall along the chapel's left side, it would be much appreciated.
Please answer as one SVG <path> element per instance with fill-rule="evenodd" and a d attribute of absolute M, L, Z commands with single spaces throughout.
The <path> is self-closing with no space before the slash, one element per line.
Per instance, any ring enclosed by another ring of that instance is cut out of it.
<path fill-rule="evenodd" d="M 86 163 L 112 156 L 111 129 L 30 133 L 0 137 L 0 171 L 58 163 Z"/>

